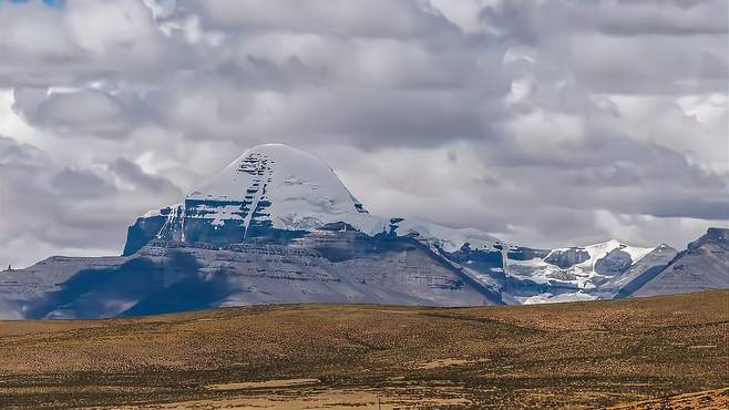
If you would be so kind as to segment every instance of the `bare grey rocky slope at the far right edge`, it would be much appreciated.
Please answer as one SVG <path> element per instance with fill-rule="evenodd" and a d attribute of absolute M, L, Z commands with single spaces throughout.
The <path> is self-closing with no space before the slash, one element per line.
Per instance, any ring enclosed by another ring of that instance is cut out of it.
<path fill-rule="evenodd" d="M 632 296 L 729 288 L 729 229 L 709 228 Z"/>

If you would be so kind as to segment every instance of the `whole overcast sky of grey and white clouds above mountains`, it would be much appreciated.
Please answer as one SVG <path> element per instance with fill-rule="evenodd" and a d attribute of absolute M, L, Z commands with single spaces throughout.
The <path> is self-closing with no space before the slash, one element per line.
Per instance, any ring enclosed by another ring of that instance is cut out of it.
<path fill-rule="evenodd" d="M 246 147 L 566 246 L 729 224 L 726 0 L 0 0 L 0 264 L 119 254 Z"/>

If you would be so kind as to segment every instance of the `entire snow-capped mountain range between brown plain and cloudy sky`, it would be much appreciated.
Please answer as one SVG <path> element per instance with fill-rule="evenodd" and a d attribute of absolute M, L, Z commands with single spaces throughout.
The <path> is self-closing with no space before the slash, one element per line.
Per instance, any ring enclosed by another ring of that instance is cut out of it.
<path fill-rule="evenodd" d="M 706 286 L 728 287 L 721 280 L 729 271 L 726 252 L 713 253 L 721 239 L 713 230 L 709 236 L 678 255 L 666 245 L 617 240 L 556 249 L 507 244 L 473 228 L 372 215 L 318 157 L 266 144 L 246 151 L 179 204 L 140 217 L 122 256 L 52 257 L 0 273 L 0 315 L 94 318 L 281 303 L 609 299 L 698 288 L 676 277 L 707 266 Z M 684 258 L 689 263 L 677 264 Z M 667 269 L 676 277 L 666 276 Z"/>

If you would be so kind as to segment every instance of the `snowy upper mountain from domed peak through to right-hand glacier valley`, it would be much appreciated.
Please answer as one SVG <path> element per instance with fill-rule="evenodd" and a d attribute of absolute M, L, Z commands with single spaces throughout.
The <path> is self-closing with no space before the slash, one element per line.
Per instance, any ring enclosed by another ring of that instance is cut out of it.
<path fill-rule="evenodd" d="M 140 218 L 130 228 L 124 254 L 153 239 L 218 247 L 257 238 L 292 244 L 307 233 L 332 227 L 368 237 L 413 238 L 474 286 L 500 291 L 513 303 L 610 296 L 617 289 L 602 293 L 600 286 L 617 283 L 653 250 L 617 240 L 528 249 L 474 228 L 372 215 L 316 155 L 265 144 L 246 151 L 181 205 Z"/>

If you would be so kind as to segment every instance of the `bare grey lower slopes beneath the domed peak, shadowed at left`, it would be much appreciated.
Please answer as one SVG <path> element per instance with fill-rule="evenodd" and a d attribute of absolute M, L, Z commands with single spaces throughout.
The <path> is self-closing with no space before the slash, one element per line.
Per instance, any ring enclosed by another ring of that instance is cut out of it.
<path fill-rule="evenodd" d="M 281 245 L 270 236 L 219 246 L 155 238 L 115 264 L 79 260 L 18 310 L 99 318 L 283 303 L 502 304 L 413 238 L 317 230 Z"/>

